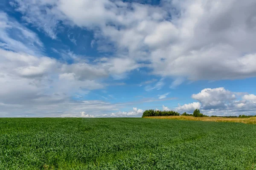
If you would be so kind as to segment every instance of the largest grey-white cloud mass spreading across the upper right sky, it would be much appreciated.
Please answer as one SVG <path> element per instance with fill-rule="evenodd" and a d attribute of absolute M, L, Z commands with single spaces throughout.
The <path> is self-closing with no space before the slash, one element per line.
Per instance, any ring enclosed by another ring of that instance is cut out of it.
<path fill-rule="evenodd" d="M 109 69 L 117 79 L 144 66 L 156 75 L 191 80 L 256 74 L 253 0 L 163 1 L 161 6 L 111 0 L 77 0 L 72 5 L 69 0 L 16 0 L 15 8 L 52 38 L 59 21 L 94 30 L 98 48 L 112 49 L 119 56 Z M 141 61 L 150 64 L 138 65 Z"/>

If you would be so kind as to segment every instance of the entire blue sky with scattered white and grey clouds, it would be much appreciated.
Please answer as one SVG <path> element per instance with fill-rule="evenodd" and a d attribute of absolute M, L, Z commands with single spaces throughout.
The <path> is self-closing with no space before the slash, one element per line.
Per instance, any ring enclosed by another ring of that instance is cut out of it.
<path fill-rule="evenodd" d="M 1 0 L 0 117 L 256 115 L 255 0 Z"/>

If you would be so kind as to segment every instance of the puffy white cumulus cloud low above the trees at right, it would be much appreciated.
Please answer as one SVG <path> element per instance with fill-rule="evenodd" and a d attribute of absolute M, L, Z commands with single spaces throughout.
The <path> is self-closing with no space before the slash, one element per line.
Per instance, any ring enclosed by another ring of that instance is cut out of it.
<path fill-rule="evenodd" d="M 192 98 L 198 100 L 198 102 L 179 105 L 175 110 L 192 113 L 198 108 L 202 113 L 209 116 L 255 115 L 255 95 L 246 94 L 241 97 L 242 94 L 244 93 L 228 91 L 225 88 L 206 88 L 200 93 L 192 95 Z"/>

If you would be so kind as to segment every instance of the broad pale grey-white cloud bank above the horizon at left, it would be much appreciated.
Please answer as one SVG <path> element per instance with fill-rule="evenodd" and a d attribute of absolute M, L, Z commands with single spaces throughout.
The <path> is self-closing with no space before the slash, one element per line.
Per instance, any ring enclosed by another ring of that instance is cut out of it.
<path fill-rule="evenodd" d="M 99 74 L 95 73 L 94 79 L 75 79 L 76 71 L 68 73 L 61 69 L 63 65 L 65 64 L 49 57 L 0 49 L 1 111 L 9 113 L 8 116 L 26 113 L 41 117 L 67 113 L 76 115 L 81 110 L 95 114 L 117 110 L 117 105 L 101 101 L 73 101 L 71 98 L 74 94 L 84 96 L 88 94 L 88 90 L 104 88 L 105 84 L 96 80 Z"/>

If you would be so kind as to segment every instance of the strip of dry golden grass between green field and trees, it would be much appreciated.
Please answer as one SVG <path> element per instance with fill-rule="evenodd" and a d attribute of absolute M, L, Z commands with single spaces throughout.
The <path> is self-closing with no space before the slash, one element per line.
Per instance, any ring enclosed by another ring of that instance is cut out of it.
<path fill-rule="evenodd" d="M 175 120 L 194 120 L 207 122 L 238 122 L 256 124 L 256 117 L 250 118 L 225 118 L 225 117 L 193 117 L 193 116 L 148 116 L 148 119 L 175 119 Z"/>

